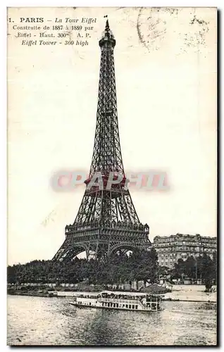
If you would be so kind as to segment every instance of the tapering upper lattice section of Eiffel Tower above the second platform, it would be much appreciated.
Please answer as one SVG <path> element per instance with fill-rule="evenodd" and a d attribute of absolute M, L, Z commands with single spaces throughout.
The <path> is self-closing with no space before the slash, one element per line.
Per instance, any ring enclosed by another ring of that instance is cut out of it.
<path fill-rule="evenodd" d="M 99 41 L 101 61 L 97 125 L 89 179 L 96 172 L 101 172 L 101 175 L 109 175 L 110 172 L 120 172 L 125 175 L 118 131 L 116 79 L 113 58 L 113 48 L 115 45 L 116 40 L 110 30 L 108 20 L 106 20 L 105 30 Z"/>

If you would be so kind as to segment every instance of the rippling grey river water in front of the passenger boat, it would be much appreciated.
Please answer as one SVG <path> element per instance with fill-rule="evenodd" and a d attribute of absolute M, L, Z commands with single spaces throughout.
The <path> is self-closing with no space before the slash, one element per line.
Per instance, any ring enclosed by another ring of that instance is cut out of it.
<path fill-rule="evenodd" d="M 163 302 L 161 312 L 75 308 L 71 298 L 8 296 L 8 345 L 216 345 L 209 303 Z"/>

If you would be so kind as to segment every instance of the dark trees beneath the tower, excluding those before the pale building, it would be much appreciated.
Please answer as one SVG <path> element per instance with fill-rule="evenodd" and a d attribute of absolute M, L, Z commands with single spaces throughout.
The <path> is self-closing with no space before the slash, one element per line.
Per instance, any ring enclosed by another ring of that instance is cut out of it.
<path fill-rule="evenodd" d="M 78 259 L 72 262 L 34 260 L 24 265 L 8 266 L 8 283 L 52 282 L 70 283 L 88 279 L 90 284 L 112 284 L 143 280 L 155 282 L 158 275 L 158 256 L 151 251 L 116 254 L 107 262 Z"/>

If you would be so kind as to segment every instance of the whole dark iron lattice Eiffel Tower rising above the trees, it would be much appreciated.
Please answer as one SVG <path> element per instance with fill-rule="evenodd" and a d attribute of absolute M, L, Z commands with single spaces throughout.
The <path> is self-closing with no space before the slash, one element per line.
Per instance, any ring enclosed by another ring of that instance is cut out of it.
<path fill-rule="evenodd" d="M 66 225 L 66 239 L 53 260 L 73 260 L 85 251 L 87 258 L 104 260 L 113 253 L 149 249 L 149 226 L 142 225 L 132 203 L 123 168 L 118 131 L 113 49 L 116 40 L 106 20 L 99 40 L 101 63 L 94 151 L 86 190 L 73 225 Z M 109 177 L 120 182 L 111 184 Z M 102 187 L 94 182 L 101 175 Z"/>

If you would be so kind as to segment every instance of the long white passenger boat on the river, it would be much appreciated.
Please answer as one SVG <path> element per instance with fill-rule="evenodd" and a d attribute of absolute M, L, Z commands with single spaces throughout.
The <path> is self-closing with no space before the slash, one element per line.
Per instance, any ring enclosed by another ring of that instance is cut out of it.
<path fill-rule="evenodd" d="M 161 295 L 156 294 L 101 291 L 96 294 L 77 294 L 70 304 L 76 307 L 149 312 L 161 310 L 161 298 Z"/>

